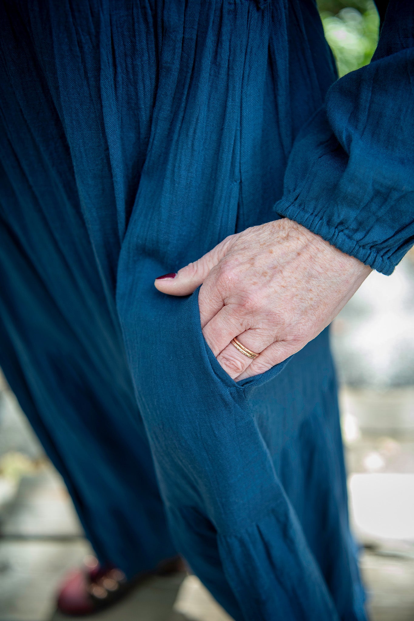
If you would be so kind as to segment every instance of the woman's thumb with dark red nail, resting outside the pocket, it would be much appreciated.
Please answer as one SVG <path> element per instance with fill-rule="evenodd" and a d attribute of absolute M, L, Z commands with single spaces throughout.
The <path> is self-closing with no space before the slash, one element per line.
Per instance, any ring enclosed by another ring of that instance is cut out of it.
<path fill-rule="evenodd" d="M 226 237 L 217 246 L 207 252 L 199 260 L 189 263 L 177 273 L 164 274 L 155 279 L 155 287 L 170 296 L 188 296 L 204 283 L 210 270 L 225 256 L 230 243 L 236 235 Z"/>

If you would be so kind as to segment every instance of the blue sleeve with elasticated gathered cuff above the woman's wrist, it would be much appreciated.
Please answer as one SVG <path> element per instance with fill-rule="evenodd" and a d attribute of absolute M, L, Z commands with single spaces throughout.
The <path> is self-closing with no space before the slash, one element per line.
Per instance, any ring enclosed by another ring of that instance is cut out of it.
<path fill-rule="evenodd" d="M 300 131 L 275 209 L 384 274 L 413 245 L 413 0 L 390 0 L 371 63 Z"/>

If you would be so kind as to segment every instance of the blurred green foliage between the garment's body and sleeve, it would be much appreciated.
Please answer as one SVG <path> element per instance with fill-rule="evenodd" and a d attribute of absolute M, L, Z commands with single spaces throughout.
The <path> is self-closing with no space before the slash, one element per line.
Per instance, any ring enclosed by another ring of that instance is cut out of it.
<path fill-rule="evenodd" d="M 325 37 L 340 76 L 367 65 L 378 42 L 379 17 L 372 0 L 318 0 Z"/>

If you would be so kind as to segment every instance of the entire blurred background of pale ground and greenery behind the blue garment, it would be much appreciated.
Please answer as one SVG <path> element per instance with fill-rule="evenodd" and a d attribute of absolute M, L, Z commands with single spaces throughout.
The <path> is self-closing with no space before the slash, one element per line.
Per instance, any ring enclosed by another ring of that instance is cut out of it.
<path fill-rule="evenodd" d="M 371 0 L 320 0 L 340 76 L 369 63 Z M 372 621 L 414 620 L 414 252 L 372 273 L 335 320 L 349 508 Z M 59 619 L 54 594 L 91 554 L 60 476 L 0 378 L 0 621 Z M 153 578 L 107 621 L 229 621 L 194 576 Z"/>

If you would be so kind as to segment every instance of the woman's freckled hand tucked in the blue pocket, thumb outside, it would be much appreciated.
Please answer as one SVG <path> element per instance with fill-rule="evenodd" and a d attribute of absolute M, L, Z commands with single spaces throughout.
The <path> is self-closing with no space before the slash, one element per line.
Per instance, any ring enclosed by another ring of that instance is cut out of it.
<path fill-rule="evenodd" d="M 201 283 L 205 340 L 236 381 L 267 371 L 330 324 L 371 268 L 284 218 L 230 235 L 159 291 L 186 296 Z M 259 356 L 238 351 L 236 337 Z"/>

